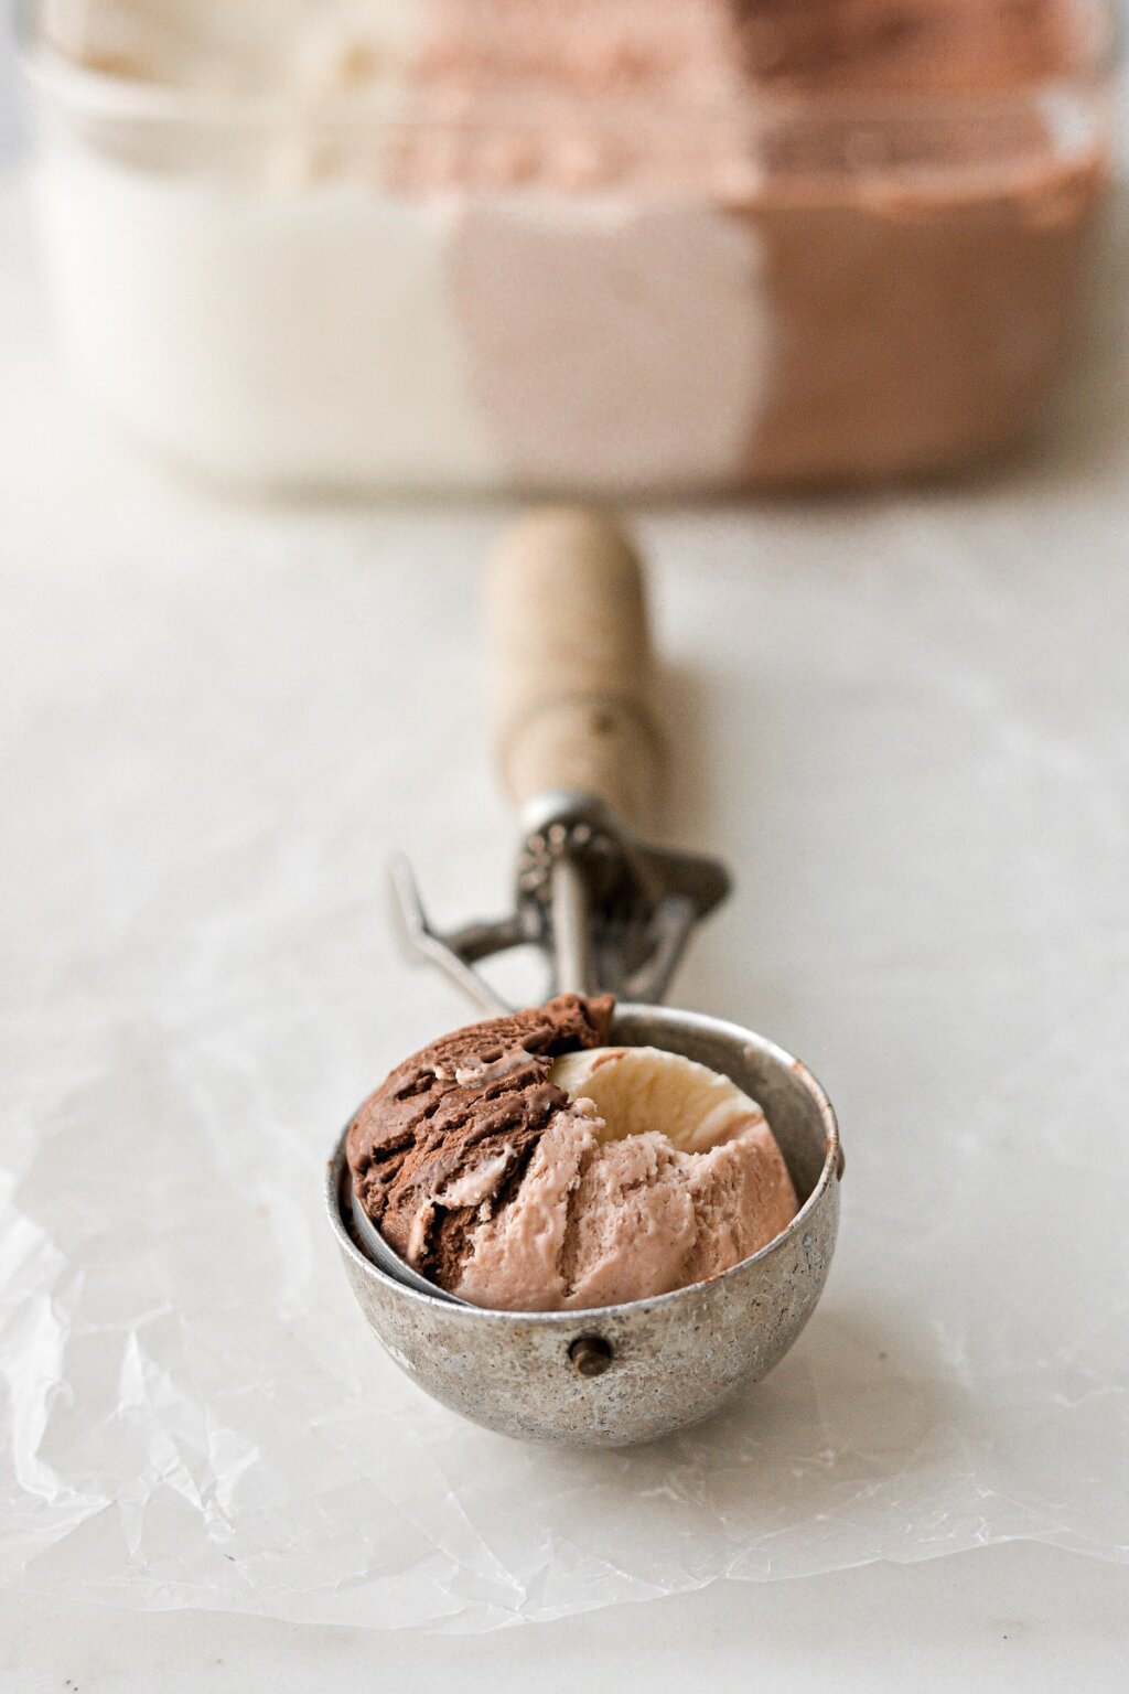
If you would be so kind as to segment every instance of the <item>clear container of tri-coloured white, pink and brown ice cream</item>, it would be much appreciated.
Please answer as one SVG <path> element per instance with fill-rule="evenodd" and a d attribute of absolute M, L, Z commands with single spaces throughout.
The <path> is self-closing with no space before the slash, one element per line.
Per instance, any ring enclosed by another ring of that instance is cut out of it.
<path fill-rule="evenodd" d="M 1038 417 L 1102 0 L 27 0 L 66 363 L 229 483 L 967 464 Z"/>

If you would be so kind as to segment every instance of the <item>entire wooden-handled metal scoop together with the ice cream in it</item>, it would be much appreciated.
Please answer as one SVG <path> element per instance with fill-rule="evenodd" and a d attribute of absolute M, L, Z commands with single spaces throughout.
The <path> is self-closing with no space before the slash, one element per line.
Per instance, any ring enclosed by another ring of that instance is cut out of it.
<path fill-rule="evenodd" d="M 838 1125 L 774 1042 L 658 1005 L 728 876 L 626 822 L 664 766 L 628 540 L 584 512 L 521 520 L 487 622 L 515 910 L 440 932 L 403 869 L 398 888 L 415 949 L 493 1018 L 362 1104 L 328 1213 L 367 1321 L 430 1394 L 509 1435 L 625 1445 L 792 1345 L 834 1247 Z M 552 998 L 515 1013 L 479 966 L 530 944 Z"/>

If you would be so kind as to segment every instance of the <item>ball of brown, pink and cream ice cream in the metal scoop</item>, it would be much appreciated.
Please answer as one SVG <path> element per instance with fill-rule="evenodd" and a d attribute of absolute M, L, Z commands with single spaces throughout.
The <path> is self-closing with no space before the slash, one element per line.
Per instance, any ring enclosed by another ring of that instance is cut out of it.
<path fill-rule="evenodd" d="M 680 1055 L 608 1047 L 611 1011 L 564 994 L 455 1030 L 357 1113 L 361 1204 L 440 1287 L 611 1306 L 719 1276 L 796 1216 L 760 1106 Z"/>

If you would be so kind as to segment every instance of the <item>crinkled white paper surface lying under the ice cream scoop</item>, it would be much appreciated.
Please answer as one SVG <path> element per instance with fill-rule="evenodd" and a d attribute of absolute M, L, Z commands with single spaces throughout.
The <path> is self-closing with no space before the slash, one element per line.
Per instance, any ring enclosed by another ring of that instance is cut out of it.
<path fill-rule="evenodd" d="M 845 1228 L 794 1354 L 640 1452 L 423 1399 L 322 1218 L 342 1120 L 506 894 L 476 566 L 499 513 L 256 510 L 56 393 L 0 203 L 0 1577 L 491 1630 L 1026 1536 L 1129 1557 L 1124 219 L 1065 439 L 995 479 L 655 513 L 677 998 L 809 1059 Z M 701 769 L 694 771 L 694 759 Z"/>

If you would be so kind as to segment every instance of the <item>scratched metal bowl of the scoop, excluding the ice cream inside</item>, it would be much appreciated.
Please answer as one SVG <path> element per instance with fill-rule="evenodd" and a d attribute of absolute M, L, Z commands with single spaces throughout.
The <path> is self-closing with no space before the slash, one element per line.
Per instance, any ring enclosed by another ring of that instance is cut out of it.
<path fill-rule="evenodd" d="M 831 1265 L 843 1155 L 811 1072 L 763 1035 L 662 1006 L 620 1006 L 611 1040 L 664 1047 L 733 1077 L 780 1143 L 799 1213 L 709 1282 L 592 1311 L 457 1306 L 379 1270 L 354 1242 L 345 1133 L 328 1172 L 345 1274 L 384 1350 L 443 1406 L 521 1440 L 626 1447 L 708 1418 L 784 1359 Z"/>

